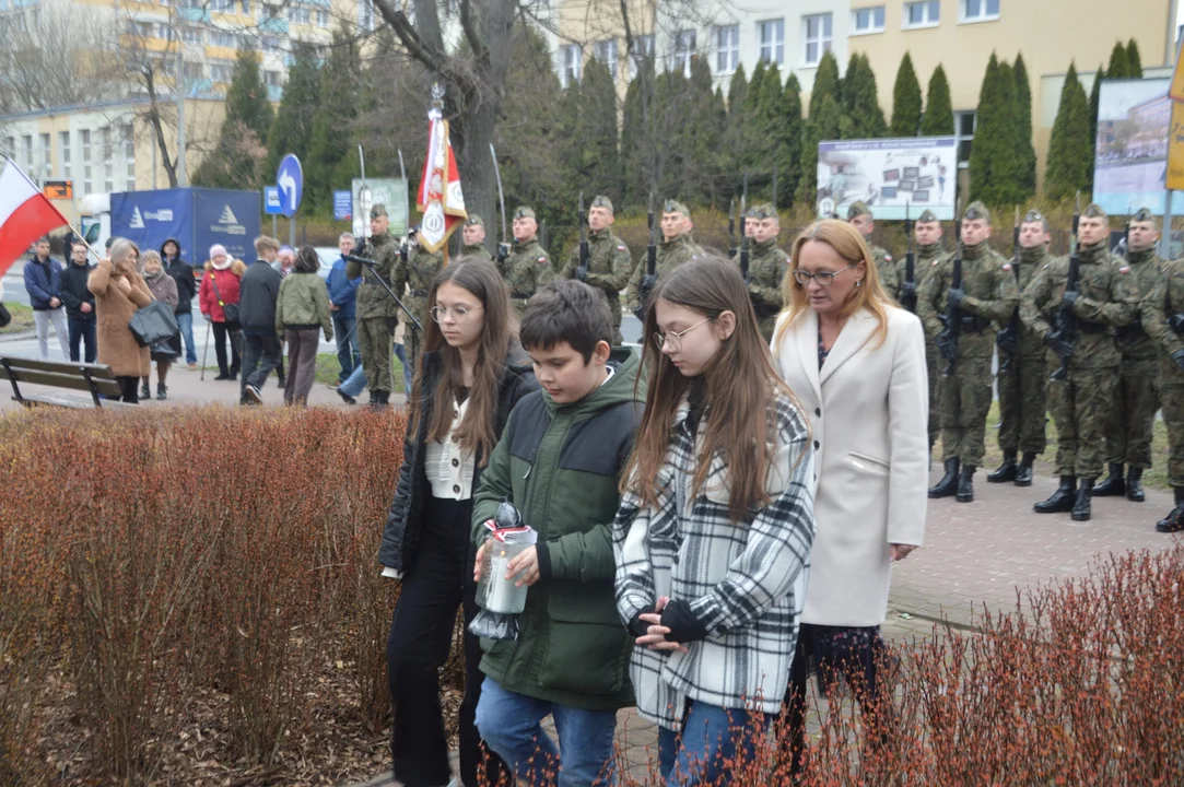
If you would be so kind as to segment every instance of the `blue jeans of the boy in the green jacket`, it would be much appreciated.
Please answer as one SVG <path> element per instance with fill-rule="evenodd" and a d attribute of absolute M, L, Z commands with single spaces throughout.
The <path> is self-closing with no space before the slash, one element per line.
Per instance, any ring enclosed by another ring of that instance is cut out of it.
<path fill-rule="evenodd" d="M 555 718 L 559 751 L 539 722 Z M 520 781 L 534 787 L 611 785 L 613 710 L 584 710 L 507 691 L 485 677 L 477 702 L 477 730 L 485 746 L 509 763 Z"/>

